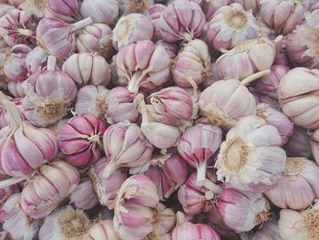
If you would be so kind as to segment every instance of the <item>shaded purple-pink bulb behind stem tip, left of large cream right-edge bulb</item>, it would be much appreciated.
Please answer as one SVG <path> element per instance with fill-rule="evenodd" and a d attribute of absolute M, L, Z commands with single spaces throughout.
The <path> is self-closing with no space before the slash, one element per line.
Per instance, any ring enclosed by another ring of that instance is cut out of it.
<path fill-rule="evenodd" d="M 256 80 L 254 87 L 259 92 L 268 95 L 272 99 L 278 99 L 277 89 L 283 76 L 289 71 L 287 66 L 273 65 L 268 76 Z"/>

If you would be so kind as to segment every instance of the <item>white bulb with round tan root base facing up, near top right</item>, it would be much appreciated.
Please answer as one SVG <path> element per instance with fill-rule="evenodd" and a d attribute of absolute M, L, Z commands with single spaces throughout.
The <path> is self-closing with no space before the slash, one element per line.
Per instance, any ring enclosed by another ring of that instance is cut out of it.
<path fill-rule="evenodd" d="M 260 31 L 252 12 L 246 12 L 239 4 L 221 6 L 205 26 L 207 42 L 218 51 L 257 38 Z"/>

